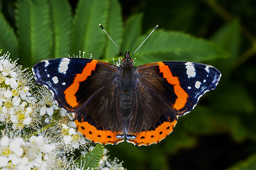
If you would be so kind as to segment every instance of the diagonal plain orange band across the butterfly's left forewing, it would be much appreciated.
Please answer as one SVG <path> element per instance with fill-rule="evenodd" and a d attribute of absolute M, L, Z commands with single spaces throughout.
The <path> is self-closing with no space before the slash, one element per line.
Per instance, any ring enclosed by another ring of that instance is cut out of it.
<path fill-rule="evenodd" d="M 87 77 L 91 75 L 91 71 L 96 68 L 97 61 L 91 60 L 91 62 L 87 63 L 87 65 L 84 67 L 83 72 L 81 74 L 77 74 L 77 76 L 74 78 L 73 84 L 71 84 L 65 91 L 65 99 L 69 106 L 75 107 L 78 105 L 77 98 L 74 96 L 78 89 L 79 89 L 79 83 L 81 81 L 85 81 Z"/>

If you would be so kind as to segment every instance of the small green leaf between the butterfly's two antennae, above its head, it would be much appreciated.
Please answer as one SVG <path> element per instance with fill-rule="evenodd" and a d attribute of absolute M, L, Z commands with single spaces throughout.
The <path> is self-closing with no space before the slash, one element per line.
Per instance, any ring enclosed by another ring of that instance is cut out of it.
<path fill-rule="evenodd" d="M 142 30 L 143 14 L 130 16 L 126 21 L 126 26 L 123 33 L 123 47 L 125 51 L 130 51 L 134 43 L 139 38 Z"/>

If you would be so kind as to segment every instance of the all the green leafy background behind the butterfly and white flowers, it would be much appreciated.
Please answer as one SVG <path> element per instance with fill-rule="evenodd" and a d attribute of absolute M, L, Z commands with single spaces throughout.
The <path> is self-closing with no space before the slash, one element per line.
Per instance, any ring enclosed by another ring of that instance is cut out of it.
<path fill-rule="evenodd" d="M 155 25 L 135 64 L 204 62 L 223 77 L 157 145 L 107 146 L 127 169 L 256 169 L 256 1 L 0 0 L 0 49 L 32 67 L 85 52 L 120 57 L 99 28 L 132 53 Z"/>

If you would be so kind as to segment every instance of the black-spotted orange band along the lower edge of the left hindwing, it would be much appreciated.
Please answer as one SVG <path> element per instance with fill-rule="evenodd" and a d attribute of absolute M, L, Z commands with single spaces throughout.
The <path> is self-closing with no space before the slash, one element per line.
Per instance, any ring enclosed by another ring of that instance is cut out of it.
<path fill-rule="evenodd" d="M 74 120 L 77 130 L 91 140 L 91 142 L 100 143 L 101 145 L 116 145 L 119 142 L 123 142 L 123 136 L 119 132 L 111 132 L 110 130 L 97 130 L 94 125 L 82 120 L 80 123 L 78 120 Z M 119 137 L 118 137 L 119 136 Z"/>

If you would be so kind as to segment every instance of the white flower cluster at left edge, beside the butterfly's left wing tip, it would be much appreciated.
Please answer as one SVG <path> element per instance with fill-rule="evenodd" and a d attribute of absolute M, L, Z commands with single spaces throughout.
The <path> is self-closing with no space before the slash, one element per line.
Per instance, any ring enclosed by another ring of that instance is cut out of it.
<path fill-rule="evenodd" d="M 24 72 L 8 53 L 0 57 L 0 122 L 11 124 L 13 130 L 35 125 L 38 116 L 28 84 L 32 76 Z"/>

